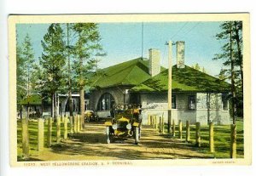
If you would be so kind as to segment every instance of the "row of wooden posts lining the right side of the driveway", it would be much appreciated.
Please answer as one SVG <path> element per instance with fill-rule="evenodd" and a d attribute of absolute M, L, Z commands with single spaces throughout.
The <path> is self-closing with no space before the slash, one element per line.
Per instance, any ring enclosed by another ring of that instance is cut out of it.
<path fill-rule="evenodd" d="M 158 121 L 159 119 L 159 121 Z M 148 116 L 148 125 L 152 126 L 159 133 L 165 133 L 163 116 Z M 236 124 L 230 125 L 230 158 L 236 158 Z M 174 119 L 172 119 L 172 136 L 176 136 L 176 124 Z M 183 123 L 181 120 L 178 121 L 178 139 L 183 139 Z M 186 121 L 186 142 L 190 142 L 190 125 L 189 121 Z M 201 123 L 195 123 L 195 146 L 201 147 Z M 213 122 L 209 122 L 209 151 L 214 152 L 214 130 Z"/>

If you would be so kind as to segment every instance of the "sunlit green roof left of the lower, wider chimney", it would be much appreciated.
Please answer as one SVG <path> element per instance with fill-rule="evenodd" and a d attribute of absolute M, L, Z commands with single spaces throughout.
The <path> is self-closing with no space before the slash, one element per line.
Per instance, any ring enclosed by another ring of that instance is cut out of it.
<path fill-rule="evenodd" d="M 161 67 L 161 71 L 165 70 Z M 148 80 L 148 60 L 137 58 L 118 65 L 102 69 L 101 74 L 92 78 L 92 87 L 108 88 L 113 86 L 127 85 L 137 86 Z"/>

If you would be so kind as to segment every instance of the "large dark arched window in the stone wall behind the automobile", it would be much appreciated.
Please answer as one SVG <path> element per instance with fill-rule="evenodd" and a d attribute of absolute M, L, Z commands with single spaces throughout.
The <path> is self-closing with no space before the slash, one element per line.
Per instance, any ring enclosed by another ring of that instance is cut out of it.
<path fill-rule="evenodd" d="M 102 94 L 101 99 L 99 99 L 97 110 L 98 111 L 107 111 L 113 107 L 114 99 L 111 94 Z"/>

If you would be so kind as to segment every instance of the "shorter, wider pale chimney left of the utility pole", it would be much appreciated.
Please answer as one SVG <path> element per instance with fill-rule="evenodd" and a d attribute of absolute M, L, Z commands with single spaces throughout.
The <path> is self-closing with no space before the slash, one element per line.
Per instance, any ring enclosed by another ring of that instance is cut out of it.
<path fill-rule="evenodd" d="M 160 73 L 160 50 L 155 48 L 150 48 L 148 50 L 148 58 L 149 58 L 149 74 L 151 77 L 158 75 Z"/>

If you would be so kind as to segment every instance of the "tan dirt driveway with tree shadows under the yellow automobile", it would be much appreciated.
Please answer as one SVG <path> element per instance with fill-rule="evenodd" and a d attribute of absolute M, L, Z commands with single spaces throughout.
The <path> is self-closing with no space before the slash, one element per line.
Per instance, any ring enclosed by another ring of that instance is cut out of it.
<path fill-rule="evenodd" d="M 32 156 L 38 161 L 67 160 L 154 160 L 175 158 L 207 158 L 194 144 L 184 139 L 173 139 L 169 134 L 160 134 L 154 128 L 143 126 L 138 145 L 134 139 L 115 139 L 107 144 L 103 122 L 86 123 L 81 133 L 73 134 L 59 145 L 45 148 Z"/>

